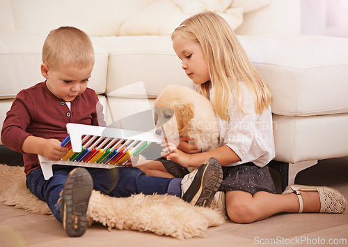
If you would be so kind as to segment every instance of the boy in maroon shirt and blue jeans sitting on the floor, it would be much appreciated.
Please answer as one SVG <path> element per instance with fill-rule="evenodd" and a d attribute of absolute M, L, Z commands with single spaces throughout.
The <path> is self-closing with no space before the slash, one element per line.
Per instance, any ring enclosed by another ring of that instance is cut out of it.
<path fill-rule="evenodd" d="M 45 82 L 20 91 L 6 115 L 1 140 L 24 154 L 26 186 L 31 193 L 47 202 L 70 237 L 86 232 L 93 189 L 113 197 L 168 193 L 191 204 L 209 206 L 222 174 L 214 158 L 185 182 L 145 176 L 135 167 L 74 169 L 65 165 L 54 165 L 53 176 L 47 181 L 43 178 L 37 155 L 60 160 L 67 154 L 68 149 L 61 147 L 68 135 L 66 123 L 106 126 L 102 105 L 95 91 L 87 87 L 93 65 L 93 45 L 86 33 L 74 27 L 51 31 L 42 48 Z"/>

